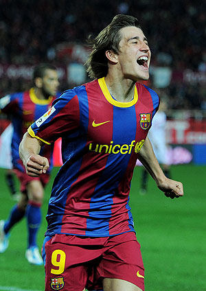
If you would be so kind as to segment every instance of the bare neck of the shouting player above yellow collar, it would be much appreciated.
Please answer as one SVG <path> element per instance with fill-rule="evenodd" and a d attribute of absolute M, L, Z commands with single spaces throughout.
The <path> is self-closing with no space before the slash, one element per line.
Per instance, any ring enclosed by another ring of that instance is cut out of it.
<path fill-rule="evenodd" d="M 135 81 L 129 79 L 119 80 L 119 78 L 114 78 L 108 74 L 105 77 L 105 82 L 109 93 L 118 102 L 130 102 L 133 100 Z"/>

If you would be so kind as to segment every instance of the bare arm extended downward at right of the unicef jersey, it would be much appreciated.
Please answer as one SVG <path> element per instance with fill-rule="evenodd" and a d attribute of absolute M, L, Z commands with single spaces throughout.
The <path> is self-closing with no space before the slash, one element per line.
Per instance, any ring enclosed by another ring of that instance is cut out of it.
<path fill-rule="evenodd" d="M 171 180 L 163 174 L 148 137 L 139 152 L 139 161 L 141 161 L 144 167 L 146 167 L 146 170 L 148 170 L 152 178 L 155 180 L 157 187 L 165 193 L 165 196 L 170 198 L 183 196 L 183 184 Z"/>

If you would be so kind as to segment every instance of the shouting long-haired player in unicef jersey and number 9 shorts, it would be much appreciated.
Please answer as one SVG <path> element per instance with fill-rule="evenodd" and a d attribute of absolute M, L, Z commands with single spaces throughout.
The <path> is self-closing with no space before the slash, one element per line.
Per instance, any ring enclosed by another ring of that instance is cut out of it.
<path fill-rule="evenodd" d="M 137 159 L 171 198 L 183 185 L 168 179 L 147 138 L 159 97 L 148 80 L 150 47 L 138 20 L 117 15 L 91 40 L 95 80 L 65 91 L 25 133 L 19 152 L 30 176 L 49 167 L 38 154 L 62 137 L 43 244 L 45 290 L 144 290 L 144 265 L 128 205 Z M 64 287 L 63 287 L 64 286 Z"/>

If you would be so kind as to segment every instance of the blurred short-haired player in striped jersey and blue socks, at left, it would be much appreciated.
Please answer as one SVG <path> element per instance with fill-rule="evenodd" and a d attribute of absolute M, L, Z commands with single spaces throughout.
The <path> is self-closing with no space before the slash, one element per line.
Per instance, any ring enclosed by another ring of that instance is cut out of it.
<path fill-rule="evenodd" d="M 42 154 L 47 156 L 50 168 L 41 177 L 31 177 L 25 172 L 25 167 L 19 158 L 19 143 L 27 128 L 41 117 L 52 106 L 58 89 L 58 73 L 56 67 L 41 64 L 34 68 L 34 87 L 23 93 L 13 93 L 2 97 L 0 108 L 4 113 L 12 114 L 14 133 L 12 136 L 12 165 L 21 183 L 21 198 L 11 209 L 8 220 L 0 222 L 0 253 L 8 248 L 10 231 L 14 224 L 24 216 L 27 219 L 27 250 L 25 257 L 31 264 L 41 265 L 43 259 L 38 251 L 36 236 L 41 225 L 41 205 L 43 191 L 49 182 L 49 172 L 52 169 L 53 146 L 45 145 Z"/>

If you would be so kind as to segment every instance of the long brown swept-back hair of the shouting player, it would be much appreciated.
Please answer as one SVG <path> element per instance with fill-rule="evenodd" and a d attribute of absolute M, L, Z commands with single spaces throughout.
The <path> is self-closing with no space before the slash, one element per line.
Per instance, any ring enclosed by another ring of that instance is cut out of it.
<path fill-rule="evenodd" d="M 119 42 L 122 38 L 119 30 L 123 27 L 140 27 L 139 21 L 134 16 L 118 14 L 111 23 L 104 28 L 94 39 L 89 37 L 88 45 L 92 49 L 91 54 L 85 62 L 87 73 L 90 78 L 102 78 L 108 73 L 108 59 L 105 52 L 113 50 L 115 54 L 119 52 Z"/>

